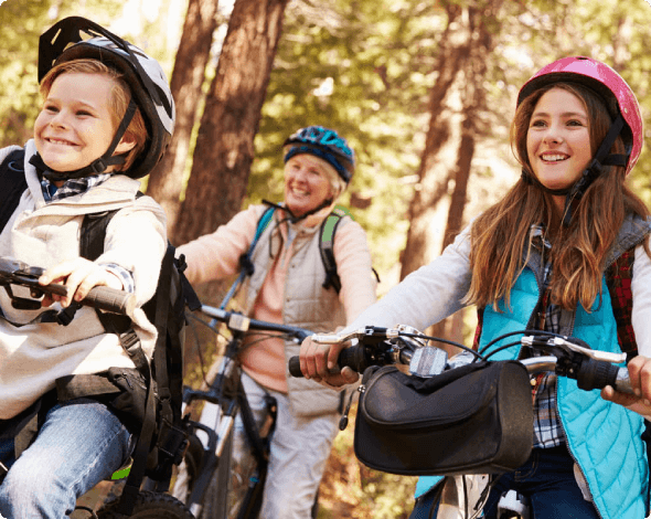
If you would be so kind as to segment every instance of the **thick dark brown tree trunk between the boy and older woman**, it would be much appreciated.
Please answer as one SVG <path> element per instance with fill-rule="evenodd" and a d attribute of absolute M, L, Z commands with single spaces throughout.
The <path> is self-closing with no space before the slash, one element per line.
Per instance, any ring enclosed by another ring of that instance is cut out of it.
<path fill-rule="evenodd" d="M 236 0 L 206 96 L 173 240 L 214 231 L 242 206 L 288 0 Z"/>

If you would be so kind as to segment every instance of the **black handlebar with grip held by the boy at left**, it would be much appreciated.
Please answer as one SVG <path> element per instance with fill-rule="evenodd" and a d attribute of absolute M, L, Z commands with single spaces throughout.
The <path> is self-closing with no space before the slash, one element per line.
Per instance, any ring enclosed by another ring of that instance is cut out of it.
<path fill-rule="evenodd" d="M 41 308 L 41 301 L 38 299 L 45 294 L 67 296 L 67 287 L 65 285 L 56 283 L 51 283 L 50 285 L 39 284 L 39 277 L 44 272 L 44 268 L 30 266 L 13 257 L 0 257 L 0 286 L 3 286 L 7 290 L 14 308 L 25 310 L 39 309 Z M 12 285 L 28 287 L 30 295 L 34 299 L 14 295 L 11 289 Z M 114 314 L 128 315 L 136 306 L 136 296 L 107 286 L 96 286 L 88 292 L 88 295 L 79 304 Z"/>

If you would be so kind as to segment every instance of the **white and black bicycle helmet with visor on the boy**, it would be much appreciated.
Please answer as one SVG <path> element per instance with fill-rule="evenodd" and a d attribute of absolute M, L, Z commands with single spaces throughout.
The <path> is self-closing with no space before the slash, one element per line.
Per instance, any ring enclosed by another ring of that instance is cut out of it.
<path fill-rule="evenodd" d="M 104 156 L 76 171 L 50 170 L 49 177 L 54 180 L 79 178 L 124 162 L 124 157 L 113 153 L 129 126 L 136 105 L 147 125 L 149 139 L 125 174 L 135 179 L 145 177 L 161 159 L 174 131 L 174 99 L 160 64 L 102 25 L 85 18 L 70 17 L 52 25 L 39 40 L 39 83 L 55 65 L 77 59 L 98 60 L 124 74 L 134 97 Z"/>

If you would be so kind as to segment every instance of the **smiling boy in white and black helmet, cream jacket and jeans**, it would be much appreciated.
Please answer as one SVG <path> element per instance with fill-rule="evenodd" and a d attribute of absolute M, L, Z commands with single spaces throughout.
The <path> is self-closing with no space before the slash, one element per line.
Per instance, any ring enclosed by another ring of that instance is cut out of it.
<path fill-rule="evenodd" d="M 139 424 L 113 406 L 115 394 L 60 401 L 56 381 L 135 364 L 94 309 L 78 309 L 68 326 L 43 316 L 94 286 L 134 293 L 132 330 L 151 353 L 156 328 L 140 307 L 157 287 L 166 219 L 152 199 L 136 197 L 137 179 L 162 156 L 174 108 L 156 61 L 82 18 L 41 36 L 39 80 L 44 102 L 34 139 L 12 166 L 24 170 L 26 189 L 1 230 L 0 255 L 46 267 L 40 283 L 64 283 L 68 296 L 25 310 L 0 290 L 0 515 L 58 519 L 128 459 Z M 0 161 L 14 150 L 0 150 Z M 84 218 L 116 209 L 104 253 L 95 262 L 81 257 Z M 29 422 L 39 426 L 35 437 Z"/>

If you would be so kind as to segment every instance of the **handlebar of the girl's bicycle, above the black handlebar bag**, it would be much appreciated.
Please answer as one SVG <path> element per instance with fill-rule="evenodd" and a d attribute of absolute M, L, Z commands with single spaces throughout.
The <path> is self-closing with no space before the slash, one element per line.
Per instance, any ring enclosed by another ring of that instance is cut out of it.
<path fill-rule="evenodd" d="M 555 371 L 557 374 L 577 380 L 578 386 L 583 390 L 590 391 L 612 385 L 617 391 L 632 392 L 628 370 L 615 366 L 626 362 L 625 353 L 593 350 L 580 339 L 535 330 L 511 332 L 497 338 L 491 345 L 513 335 L 523 335 L 523 337 L 517 342 L 505 347 L 522 345 L 531 351 L 549 353 L 545 357 L 520 360 L 530 374 Z M 445 350 L 427 345 L 429 340 L 440 341 L 440 339 L 403 325 L 395 328 L 367 326 L 345 335 L 312 336 L 312 341 L 323 345 L 341 345 L 352 339 L 356 339 L 359 345 L 343 349 L 339 354 L 338 366 L 339 369 L 349 367 L 359 373 L 370 366 L 408 364 L 413 374 L 431 377 L 469 361 L 487 360 L 492 354 L 482 357 L 462 345 L 453 343 L 465 352 L 448 361 Z M 491 345 L 487 345 L 483 349 Z M 471 360 L 468 360 L 469 354 L 473 356 Z M 292 377 L 302 377 L 299 357 L 292 357 L 289 360 L 289 372 Z"/>

